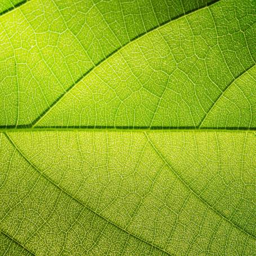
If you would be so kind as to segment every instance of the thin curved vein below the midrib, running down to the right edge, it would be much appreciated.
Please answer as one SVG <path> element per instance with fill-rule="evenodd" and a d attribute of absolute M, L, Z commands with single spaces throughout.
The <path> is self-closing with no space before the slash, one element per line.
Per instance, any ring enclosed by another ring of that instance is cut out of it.
<path fill-rule="evenodd" d="M 226 220 L 229 224 L 231 224 L 231 226 L 236 227 L 237 229 L 239 229 L 240 231 L 244 232 L 246 235 L 253 237 L 254 239 L 256 239 L 256 237 L 250 233 L 248 233 L 246 230 L 242 229 L 241 227 L 237 226 L 237 224 L 231 222 L 231 220 L 229 220 L 226 216 L 224 216 L 222 213 L 220 213 L 220 211 L 216 210 L 213 208 L 213 206 L 211 206 L 207 201 L 204 200 L 204 198 L 202 198 L 200 195 L 198 195 L 191 187 L 188 186 L 188 184 L 182 179 L 180 178 L 180 176 L 178 175 L 178 173 L 176 173 L 176 171 L 173 169 L 173 167 L 171 167 L 171 165 L 169 164 L 169 162 L 167 162 L 167 160 L 164 158 L 164 156 L 162 156 L 161 152 L 155 147 L 155 145 L 152 143 L 152 140 L 149 138 L 148 134 L 146 132 L 144 132 L 145 137 L 148 139 L 149 143 L 152 145 L 152 148 L 155 150 L 155 152 L 157 153 L 158 156 L 160 156 L 160 158 L 162 159 L 162 161 L 165 162 L 165 164 L 170 168 L 170 170 L 173 172 L 173 174 L 180 180 L 180 182 L 186 187 L 188 188 L 200 201 L 202 201 L 206 206 L 208 206 L 211 210 L 214 211 L 215 214 L 219 215 L 219 217 L 223 218 L 224 220 Z"/>

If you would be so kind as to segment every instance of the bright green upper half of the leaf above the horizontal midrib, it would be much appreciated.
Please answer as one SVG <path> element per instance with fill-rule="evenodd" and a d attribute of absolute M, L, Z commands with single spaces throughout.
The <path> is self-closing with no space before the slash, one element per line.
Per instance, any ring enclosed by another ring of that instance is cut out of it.
<path fill-rule="evenodd" d="M 252 2 L 130 5 L 3 15 L 1 125 L 255 127 Z"/>

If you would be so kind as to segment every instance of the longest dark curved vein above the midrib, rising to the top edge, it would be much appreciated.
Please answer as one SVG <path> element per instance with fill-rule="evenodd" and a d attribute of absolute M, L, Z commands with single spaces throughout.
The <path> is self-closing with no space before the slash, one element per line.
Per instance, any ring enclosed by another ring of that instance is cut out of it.
<path fill-rule="evenodd" d="M 81 77 L 79 77 L 71 86 L 69 86 L 69 88 L 67 90 L 65 90 L 63 92 L 63 94 L 61 94 L 56 100 L 54 100 L 48 108 L 46 108 L 34 121 L 32 121 L 30 123 L 30 127 L 34 127 L 37 125 L 37 123 L 39 121 L 41 121 L 50 111 L 51 109 L 57 104 L 59 103 L 59 101 L 65 96 L 67 95 L 72 89 L 73 87 L 75 87 L 77 85 L 78 82 L 80 82 L 83 78 L 85 78 L 87 75 L 89 75 L 92 70 L 100 67 L 100 65 L 102 63 L 104 63 L 105 61 L 107 61 L 109 58 L 111 58 L 112 56 L 114 56 L 115 54 L 117 54 L 117 52 L 119 52 L 120 50 L 122 50 L 123 48 L 127 47 L 128 45 L 130 45 L 130 43 L 136 41 L 137 39 L 139 38 L 143 38 L 144 36 L 147 36 L 149 33 L 152 33 L 153 31 L 155 31 L 156 29 L 158 28 L 163 28 L 165 27 L 166 25 L 170 24 L 171 22 L 173 21 L 176 21 L 176 20 L 179 20 L 181 19 L 182 17 L 186 16 L 186 15 L 189 15 L 189 14 L 194 14 L 195 12 L 197 11 L 200 11 L 200 10 L 203 10 L 205 8 L 208 8 L 209 6 L 211 5 L 214 5 L 215 3 L 218 3 L 220 0 L 214 0 L 213 2 L 209 3 L 208 5 L 206 4 L 205 6 L 203 7 L 198 7 L 198 8 L 195 8 L 193 10 L 190 10 L 190 11 L 187 11 L 187 12 L 184 12 L 183 14 L 181 15 L 178 15 L 176 17 L 174 17 L 173 19 L 171 20 L 168 20 L 168 21 L 165 21 L 164 23 L 161 23 L 159 25 L 157 25 L 156 27 L 153 27 L 149 30 L 147 30 L 146 32 L 143 32 L 141 34 L 139 34 L 138 36 L 134 37 L 133 39 L 131 39 L 129 42 L 125 43 L 124 45 L 122 45 L 121 47 L 117 48 L 116 50 L 114 50 L 113 52 L 111 52 L 110 54 L 108 54 L 107 56 L 105 56 L 104 59 L 100 60 L 98 63 L 96 63 L 92 68 L 90 68 L 89 70 L 87 70 L 84 74 L 82 74 Z"/>

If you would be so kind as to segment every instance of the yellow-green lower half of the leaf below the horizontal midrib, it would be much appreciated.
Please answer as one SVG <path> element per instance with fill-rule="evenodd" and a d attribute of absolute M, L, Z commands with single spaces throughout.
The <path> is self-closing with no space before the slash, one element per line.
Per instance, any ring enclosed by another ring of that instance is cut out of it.
<path fill-rule="evenodd" d="M 36 255 L 253 255 L 255 147 L 250 131 L 2 134 L 1 228 Z"/>

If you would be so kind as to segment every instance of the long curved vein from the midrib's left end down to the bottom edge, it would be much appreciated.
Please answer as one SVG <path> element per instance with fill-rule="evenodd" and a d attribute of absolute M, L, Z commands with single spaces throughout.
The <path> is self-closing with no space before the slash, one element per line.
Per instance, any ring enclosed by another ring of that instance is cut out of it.
<path fill-rule="evenodd" d="M 85 205 L 83 202 L 81 202 L 78 198 L 73 197 L 68 191 L 65 191 L 64 188 L 60 187 L 58 184 L 56 184 L 54 182 L 54 180 L 52 180 L 51 178 L 49 178 L 45 173 L 43 173 L 43 171 L 39 170 L 38 167 L 36 165 L 34 165 L 32 162 L 30 162 L 28 160 L 28 158 L 23 154 L 23 152 L 20 150 L 20 148 L 14 143 L 14 141 L 11 139 L 11 137 L 5 133 L 6 138 L 9 140 L 9 142 L 12 144 L 12 146 L 14 148 L 16 148 L 17 152 L 19 152 L 20 156 L 24 158 L 24 160 L 34 168 L 34 170 L 36 170 L 39 174 L 41 174 L 43 176 L 43 178 L 45 178 L 46 180 L 48 180 L 48 182 L 50 182 L 52 185 L 54 185 L 55 187 L 59 188 L 60 191 L 62 191 L 65 195 L 67 195 L 68 197 L 72 198 L 74 201 L 76 201 L 78 204 L 84 206 L 86 209 L 92 211 L 92 213 L 94 213 L 95 215 L 99 216 L 100 218 L 104 219 L 106 222 L 111 223 L 113 226 L 117 227 L 118 229 L 120 229 L 121 231 L 127 233 L 128 235 L 131 235 L 133 237 L 135 237 L 136 239 L 139 239 L 140 241 L 145 242 L 148 245 L 151 245 L 152 247 L 157 248 L 158 250 L 163 251 L 164 253 L 168 254 L 171 256 L 170 253 L 168 253 L 167 251 L 165 251 L 164 249 L 160 248 L 157 245 L 151 244 L 150 242 L 142 239 L 141 237 L 138 237 L 136 235 L 134 235 L 133 233 L 130 233 L 129 231 L 126 231 L 125 229 L 123 229 L 122 227 L 118 226 L 117 224 L 113 223 L 111 220 L 106 219 L 105 217 L 101 216 L 99 213 L 96 213 L 96 211 L 92 210 L 89 206 Z"/>

